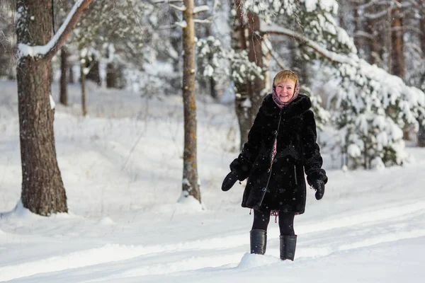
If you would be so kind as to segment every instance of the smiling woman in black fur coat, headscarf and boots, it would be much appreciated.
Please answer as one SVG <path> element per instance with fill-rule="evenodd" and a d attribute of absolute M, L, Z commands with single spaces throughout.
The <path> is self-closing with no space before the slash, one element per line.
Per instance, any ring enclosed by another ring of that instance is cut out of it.
<path fill-rule="evenodd" d="M 270 216 L 279 216 L 281 260 L 294 260 L 297 235 L 293 221 L 305 211 L 304 173 L 317 200 L 322 199 L 328 180 L 316 142 L 312 103 L 299 89 L 293 71 L 276 75 L 273 91 L 264 98 L 248 141 L 222 183 L 222 190 L 227 191 L 237 180 L 248 178 L 242 207 L 254 209 L 251 253 L 266 252 Z"/>

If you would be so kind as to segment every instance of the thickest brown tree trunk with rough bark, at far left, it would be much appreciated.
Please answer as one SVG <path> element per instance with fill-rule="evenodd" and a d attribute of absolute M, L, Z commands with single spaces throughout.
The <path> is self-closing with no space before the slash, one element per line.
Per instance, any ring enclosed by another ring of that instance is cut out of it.
<path fill-rule="evenodd" d="M 18 0 L 16 8 L 18 44 L 45 45 L 52 35 L 52 1 Z M 18 58 L 17 80 L 23 207 L 43 216 L 67 212 L 53 133 L 50 60 Z"/>

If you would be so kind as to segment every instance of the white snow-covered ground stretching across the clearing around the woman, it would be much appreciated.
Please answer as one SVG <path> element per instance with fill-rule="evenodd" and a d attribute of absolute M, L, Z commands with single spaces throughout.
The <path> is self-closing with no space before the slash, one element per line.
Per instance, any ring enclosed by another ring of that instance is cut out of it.
<path fill-rule="evenodd" d="M 0 81 L 0 282 L 424 282 L 425 150 L 382 171 L 331 168 L 323 200 L 295 217 L 295 261 L 278 225 L 250 255 L 243 185 L 220 190 L 237 156 L 232 105 L 198 101 L 203 207 L 181 193 L 180 96 L 141 98 L 89 85 L 89 117 L 57 105 L 57 158 L 69 214 L 23 209 L 16 85 Z M 57 85 L 53 86 L 57 101 Z"/>

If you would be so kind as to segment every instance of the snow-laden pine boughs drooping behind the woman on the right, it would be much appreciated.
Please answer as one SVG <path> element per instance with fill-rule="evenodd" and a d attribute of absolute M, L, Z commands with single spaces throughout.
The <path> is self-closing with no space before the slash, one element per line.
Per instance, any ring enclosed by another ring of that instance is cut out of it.
<path fill-rule="evenodd" d="M 424 121 L 425 94 L 359 59 L 353 38 L 334 20 L 336 1 L 246 0 L 244 7 L 272 27 L 261 31 L 284 27 L 280 34 L 306 43 L 306 59 L 323 59 L 334 67 L 339 91 L 332 99 L 332 121 L 345 133 L 341 148 L 353 167 L 370 168 L 378 158 L 385 166 L 407 160 L 400 133 Z"/>

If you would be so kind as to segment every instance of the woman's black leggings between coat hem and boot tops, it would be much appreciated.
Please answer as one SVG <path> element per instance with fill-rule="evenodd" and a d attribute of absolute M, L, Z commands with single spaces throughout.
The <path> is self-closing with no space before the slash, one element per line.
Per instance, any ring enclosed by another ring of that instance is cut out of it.
<path fill-rule="evenodd" d="M 254 210 L 254 222 L 252 229 L 261 229 L 267 231 L 268 222 L 270 221 L 270 210 Z M 279 211 L 279 230 L 280 235 L 293 236 L 294 231 L 294 212 Z"/>

